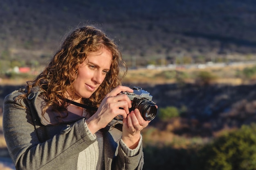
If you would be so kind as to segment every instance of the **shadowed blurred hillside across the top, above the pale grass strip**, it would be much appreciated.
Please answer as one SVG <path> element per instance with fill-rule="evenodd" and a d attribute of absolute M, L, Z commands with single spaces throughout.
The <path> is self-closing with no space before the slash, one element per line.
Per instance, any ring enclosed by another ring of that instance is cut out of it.
<path fill-rule="evenodd" d="M 0 59 L 23 65 L 47 63 L 84 24 L 115 39 L 130 66 L 135 58 L 136 65 L 255 59 L 252 0 L 2 0 L 0 15 Z"/>

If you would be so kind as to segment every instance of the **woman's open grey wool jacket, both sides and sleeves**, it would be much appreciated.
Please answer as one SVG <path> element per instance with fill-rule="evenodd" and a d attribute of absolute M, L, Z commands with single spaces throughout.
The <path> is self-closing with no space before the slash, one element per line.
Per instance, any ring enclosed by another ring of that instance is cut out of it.
<path fill-rule="evenodd" d="M 22 105 L 14 100 L 24 91 L 16 90 L 4 99 L 4 137 L 16 169 L 76 170 L 79 153 L 95 142 L 86 133 L 85 119 L 69 114 L 61 124 L 53 126 L 58 122 L 57 113 L 47 111 L 44 117 L 41 115 L 45 101 L 38 96 L 40 92 L 31 92 Z M 142 169 L 142 145 L 136 156 L 128 157 L 119 145 L 120 124 L 113 128 L 114 123 L 105 128 L 103 137 L 105 169 Z"/>

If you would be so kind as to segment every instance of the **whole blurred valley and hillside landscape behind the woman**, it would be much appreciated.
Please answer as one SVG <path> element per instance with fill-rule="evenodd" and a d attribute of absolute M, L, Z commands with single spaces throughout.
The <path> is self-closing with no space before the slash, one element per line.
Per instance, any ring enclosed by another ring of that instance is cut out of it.
<path fill-rule="evenodd" d="M 94 25 L 119 45 L 124 85 L 159 109 L 142 132 L 144 170 L 256 169 L 256 1 L 0 0 L 0 169 L 4 97 Z"/>

